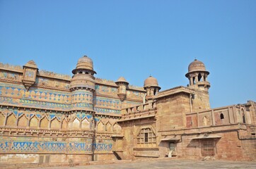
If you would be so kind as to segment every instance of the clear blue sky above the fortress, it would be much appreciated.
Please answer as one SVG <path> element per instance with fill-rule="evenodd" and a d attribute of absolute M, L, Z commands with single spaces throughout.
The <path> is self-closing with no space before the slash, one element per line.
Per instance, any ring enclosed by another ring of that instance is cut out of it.
<path fill-rule="evenodd" d="M 211 107 L 256 101 L 256 1 L 0 0 L 0 62 L 71 75 L 93 59 L 96 77 L 163 89 L 186 86 L 197 58 Z"/>

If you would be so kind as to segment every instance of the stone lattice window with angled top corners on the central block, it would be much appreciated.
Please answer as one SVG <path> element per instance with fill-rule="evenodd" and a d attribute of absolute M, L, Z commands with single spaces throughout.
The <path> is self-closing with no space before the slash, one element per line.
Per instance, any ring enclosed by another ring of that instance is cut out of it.
<path fill-rule="evenodd" d="M 137 135 L 137 143 L 156 143 L 156 134 L 152 132 L 151 128 L 143 128 Z"/>

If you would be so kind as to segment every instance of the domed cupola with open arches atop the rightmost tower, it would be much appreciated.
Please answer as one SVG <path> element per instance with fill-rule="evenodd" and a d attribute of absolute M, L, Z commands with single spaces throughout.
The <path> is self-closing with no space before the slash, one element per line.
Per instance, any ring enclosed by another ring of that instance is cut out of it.
<path fill-rule="evenodd" d="M 209 72 L 206 70 L 204 63 L 194 59 L 188 66 L 188 73 L 185 76 L 190 80 L 190 86 L 208 90 L 211 87 L 207 81 L 208 75 Z"/>

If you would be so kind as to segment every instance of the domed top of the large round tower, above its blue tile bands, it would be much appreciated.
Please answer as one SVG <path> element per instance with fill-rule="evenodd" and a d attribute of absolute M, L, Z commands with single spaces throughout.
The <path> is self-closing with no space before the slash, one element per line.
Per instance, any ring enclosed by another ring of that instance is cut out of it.
<path fill-rule="evenodd" d="M 76 68 L 72 70 L 74 74 L 71 80 L 70 89 L 91 89 L 95 90 L 95 71 L 93 70 L 93 61 L 88 56 L 78 59 Z"/>

